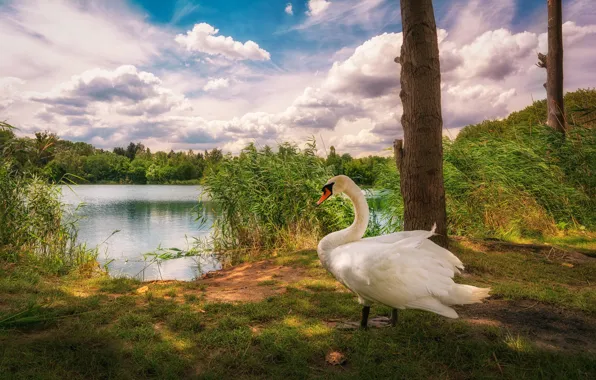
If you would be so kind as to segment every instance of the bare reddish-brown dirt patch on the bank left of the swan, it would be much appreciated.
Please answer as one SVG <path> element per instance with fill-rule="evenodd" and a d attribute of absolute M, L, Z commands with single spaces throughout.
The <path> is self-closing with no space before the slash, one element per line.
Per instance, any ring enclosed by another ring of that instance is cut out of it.
<path fill-rule="evenodd" d="M 207 286 L 205 297 L 210 301 L 261 301 L 284 293 L 288 284 L 307 277 L 304 268 L 264 260 L 210 272 L 198 282 Z"/>

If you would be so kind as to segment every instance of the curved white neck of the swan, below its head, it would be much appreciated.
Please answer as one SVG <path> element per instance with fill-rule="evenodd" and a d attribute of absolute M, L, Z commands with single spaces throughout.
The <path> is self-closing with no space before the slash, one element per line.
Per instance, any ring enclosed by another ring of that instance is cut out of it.
<path fill-rule="evenodd" d="M 326 257 L 323 256 L 326 256 L 326 253 L 340 245 L 360 240 L 362 236 L 364 236 L 366 227 L 368 226 L 368 203 L 366 203 L 366 197 L 362 194 L 360 188 L 352 182 L 344 191 L 344 194 L 346 194 L 354 204 L 354 222 L 350 227 L 332 232 L 320 241 L 317 251 L 324 264 Z"/>

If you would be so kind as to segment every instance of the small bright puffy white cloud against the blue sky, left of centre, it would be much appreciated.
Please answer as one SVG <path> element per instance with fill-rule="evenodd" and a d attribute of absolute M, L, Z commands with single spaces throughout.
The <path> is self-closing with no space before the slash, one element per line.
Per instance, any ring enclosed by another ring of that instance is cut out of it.
<path fill-rule="evenodd" d="M 219 29 L 200 23 L 186 34 L 178 34 L 176 42 L 190 52 L 221 55 L 233 60 L 268 61 L 271 55 L 253 41 L 234 41 L 232 37 L 218 36 Z"/>

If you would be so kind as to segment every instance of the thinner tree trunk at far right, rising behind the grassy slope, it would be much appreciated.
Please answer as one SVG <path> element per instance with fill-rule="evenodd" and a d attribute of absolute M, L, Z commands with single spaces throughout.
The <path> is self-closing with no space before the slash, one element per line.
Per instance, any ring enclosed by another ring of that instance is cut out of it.
<path fill-rule="evenodd" d="M 563 15 L 561 0 L 548 0 L 548 53 L 546 54 L 547 124 L 565 133 L 563 108 Z"/>

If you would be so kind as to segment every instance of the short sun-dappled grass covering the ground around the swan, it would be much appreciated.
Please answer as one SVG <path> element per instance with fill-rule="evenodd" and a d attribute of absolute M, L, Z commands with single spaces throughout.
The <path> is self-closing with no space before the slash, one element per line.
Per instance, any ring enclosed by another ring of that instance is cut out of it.
<path fill-rule="evenodd" d="M 561 265 L 545 253 L 485 253 L 454 242 L 468 275 L 493 286 L 493 299 L 520 300 L 596 321 L 596 264 Z M 308 278 L 255 302 L 221 303 L 200 282 L 153 282 L 41 277 L 22 267 L 0 269 L 0 377 L 62 378 L 566 378 L 596 376 L 593 353 L 545 348 L 531 333 L 507 324 L 471 324 L 431 313 L 400 313 L 398 328 L 340 330 L 325 321 L 358 320 L 355 297 L 318 264 L 313 251 L 274 259 L 305 268 Z M 282 276 L 259 286 L 281 286 Z M 147 286 L 146 293 L 137 289 Z M 534 310 L 537 307 L 534 308 Z M 461 310 L 466 310 L 462 308 Z M 533 309 L 524 309 L 527 314 Z M 548 316 L 535 312 L 535 323 Z M 372 315 L 389 315 L 374 306 Z M 470 312 L 471 314 L 474 314 Z M 498 313 L 497 313 L 498 314 Z M 517 318 L 521 312 L 509 312 Z M 498 319 L 498 317 L 495 317 Z M 558 326 L 559 326 L 558 325 Z M 518 326 L 518 327 L 519 327 Z M 592 326 L 594 328 L 594 326 Z M 571 337 L 570 337 L 571 339 Z M 337 351 L 347 362 L 332 366 Z"/>

